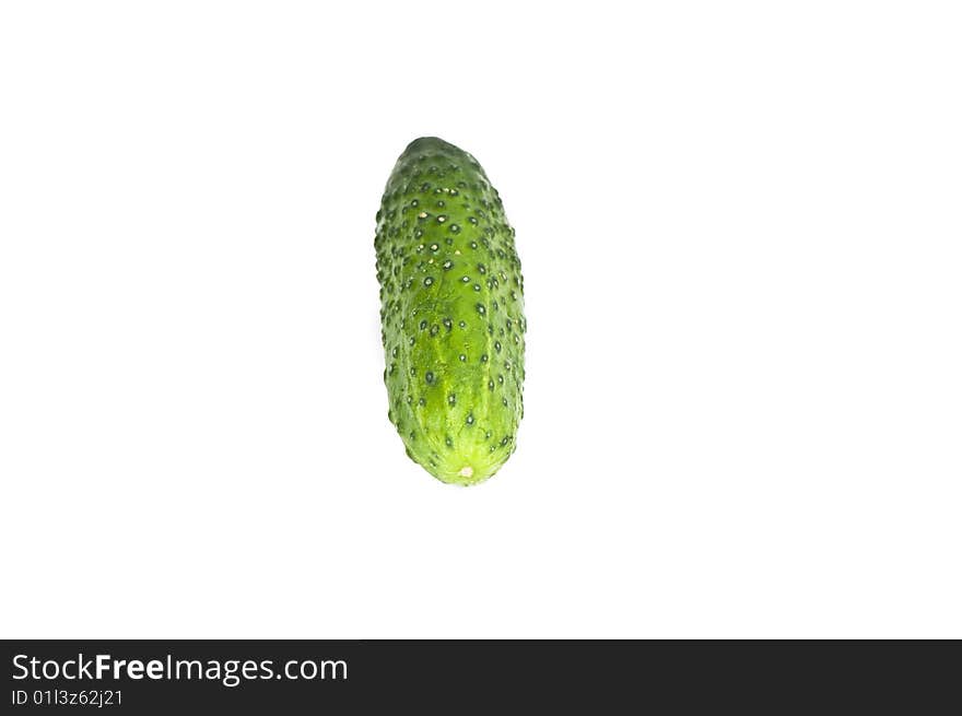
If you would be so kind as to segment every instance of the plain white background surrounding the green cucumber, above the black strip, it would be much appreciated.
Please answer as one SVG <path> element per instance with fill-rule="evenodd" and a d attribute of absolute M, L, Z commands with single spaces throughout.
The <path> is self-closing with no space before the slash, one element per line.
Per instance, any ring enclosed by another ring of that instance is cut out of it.
<path fill-rule="evenodd" d="M 962 637 L 960 36 L 4 3 L 0 634 Z M 518 450 L 473 489 L 387 420 L 374 214 L 422 134 L 525 270 Z"/>

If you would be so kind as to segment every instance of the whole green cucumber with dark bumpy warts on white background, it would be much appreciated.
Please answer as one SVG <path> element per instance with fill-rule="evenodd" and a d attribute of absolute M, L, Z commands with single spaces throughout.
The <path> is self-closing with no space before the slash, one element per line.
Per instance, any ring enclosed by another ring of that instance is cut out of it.
<path fill-rule="evenodd" d="M 377 212 L 388 418 L 408 456 L 477 484 L 524 413 L 524 279 L 515 232 L 473 156 L 435 137 L 398 159 Z"/>

